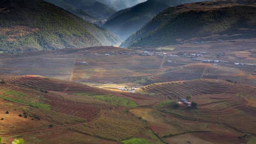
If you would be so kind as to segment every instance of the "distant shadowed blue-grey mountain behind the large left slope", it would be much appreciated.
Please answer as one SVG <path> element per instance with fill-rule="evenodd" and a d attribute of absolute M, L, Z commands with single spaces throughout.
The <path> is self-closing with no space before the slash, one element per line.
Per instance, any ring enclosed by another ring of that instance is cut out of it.
<path fill-rule="evenodd" d="M 102 25 L 116 10 L 95 0 L 45 0 L 86 21 Z"/>

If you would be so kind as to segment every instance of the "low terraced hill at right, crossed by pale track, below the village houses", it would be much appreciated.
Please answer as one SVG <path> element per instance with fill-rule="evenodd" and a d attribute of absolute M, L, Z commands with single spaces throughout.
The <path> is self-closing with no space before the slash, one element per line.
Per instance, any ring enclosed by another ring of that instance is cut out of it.
<path fill-rule="evenodd" d="M 230 67 L 234 67 L 233 65 Z M 220 67 L 218 65 L 206 63 L 187 64 L 162 71 L 161 73 L 152 76 L 151 79 L 155 83 L 177 80 L 221 79 L 256 86 L 254 77 L 247 76 L 246 73 L 239 71 L 236 68 L 237 67 L 229 68 L 229 66 Z M 247 68 L 252 69 L 253 66 Z M 246 67 L 243 67 L 243 69 L 246 69 Z"/>

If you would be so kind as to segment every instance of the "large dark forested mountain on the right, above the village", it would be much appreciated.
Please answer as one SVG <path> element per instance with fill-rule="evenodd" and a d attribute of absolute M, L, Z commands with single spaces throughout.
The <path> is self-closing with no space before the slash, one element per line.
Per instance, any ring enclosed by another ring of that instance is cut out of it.
<path fill-rule="evenodd" d="M 256 0 L 207 1 L 170 7 L 147 22 L 122 47 L 256 37 Z"/>

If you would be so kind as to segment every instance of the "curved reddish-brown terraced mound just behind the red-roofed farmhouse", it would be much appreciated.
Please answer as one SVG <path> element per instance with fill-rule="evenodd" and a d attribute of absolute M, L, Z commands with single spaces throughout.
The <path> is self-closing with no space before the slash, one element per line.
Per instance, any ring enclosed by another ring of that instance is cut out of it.
<path fill-rule="evenodd" d="M 252 96 L 255 89 L 250 86 L 241 86 L 238 84 L 226 82 L 223 80 L 186 80 L 180 82 L 156 83 L 142 88 L 145 92 L 159 93 L 171 96 L 196 96 L 205 94 L 238 94 L 243 96 Z"/>

